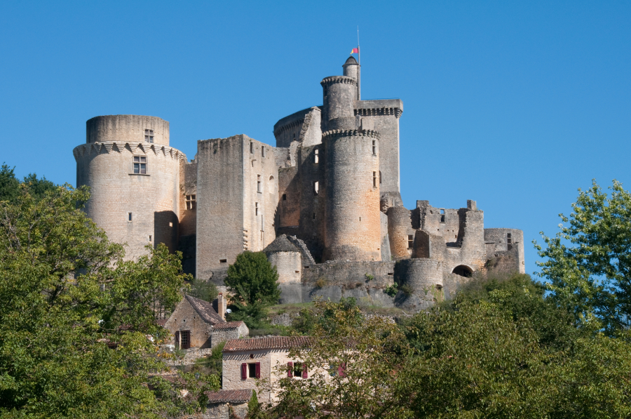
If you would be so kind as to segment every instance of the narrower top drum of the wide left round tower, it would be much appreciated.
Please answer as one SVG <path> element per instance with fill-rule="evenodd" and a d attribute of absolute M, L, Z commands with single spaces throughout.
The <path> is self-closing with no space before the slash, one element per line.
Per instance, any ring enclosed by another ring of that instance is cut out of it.
<path fill-rule="evenodd" d="M 149 131 L 150 130 L 150 131 Z M 147 142 L 169 145 L 169 123 L 158 117 L 144 115 L 104 115 L 86 121 L 86 143 Z"/>

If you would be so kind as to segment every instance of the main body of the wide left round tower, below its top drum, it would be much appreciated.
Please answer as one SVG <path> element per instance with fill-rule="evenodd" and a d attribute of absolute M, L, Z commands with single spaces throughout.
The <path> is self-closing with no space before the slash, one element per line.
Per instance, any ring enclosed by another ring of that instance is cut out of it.
<path fill-rule="evenodd" d="M 146 159 L 147 173 L 134 173 L 135 156 Z M 77 186 L 91 188 L 86 215 L 111 241 L 127 244 L 126 259 L 147 254 L 148 244 L 164 243 L 176 250 L 179 169 L 186 159 L 182 152 L 147 142 L 112 141 L 80 145 L 74 157 Z"/>

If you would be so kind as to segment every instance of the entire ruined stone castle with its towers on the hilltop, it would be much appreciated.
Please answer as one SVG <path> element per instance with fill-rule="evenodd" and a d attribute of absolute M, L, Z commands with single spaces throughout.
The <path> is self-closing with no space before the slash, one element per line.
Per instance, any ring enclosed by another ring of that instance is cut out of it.
<path fill-rule="evenodd" d="M 247 135 L 199 140 L 189 161 L 169 146 L 168 121 L 89 119 L 73 151 L 77 186 L 92 190 L 87 215 L 128 245 L 127 258 L 164 243 L 182 251 L 186 272 L 218 285 L 239 253 L 265 251 L 283 302 L 353 296 L 421 309 L 473 272 L 524 272 L 522 231 L 485 229 L 475 201 L 402 206 L 403 103 L 362 100 L 358 62 L 342 67 L 320 82 L 323 105 L 274 125 L 276 147 Z"/>

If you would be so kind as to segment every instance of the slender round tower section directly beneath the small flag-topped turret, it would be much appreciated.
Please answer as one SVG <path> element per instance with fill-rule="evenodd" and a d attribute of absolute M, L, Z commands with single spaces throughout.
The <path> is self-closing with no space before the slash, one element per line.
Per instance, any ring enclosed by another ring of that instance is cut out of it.
<path fill-rule="evenodd" d="M 323 88 L 323 131 L 355 129 L 353 104 L 357 98 L 357 80 L 333 76 L 326 77 L 320 84 Z"/>

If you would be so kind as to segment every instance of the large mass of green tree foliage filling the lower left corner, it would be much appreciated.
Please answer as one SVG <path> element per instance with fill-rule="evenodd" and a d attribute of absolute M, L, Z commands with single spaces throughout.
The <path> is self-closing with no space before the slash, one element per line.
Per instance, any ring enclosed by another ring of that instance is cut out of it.
<path fill-rule="evenodd" d="M 0 416 L 158 418 L 204 406 L 216 376 L 156 375 L 167 331 L 155 319 L 187 279 L 179 255 L 161 245 L 123 262 L 81 211 L 88 197 L 65 185 L 39 199 L 22 184 L 0 202 Z"/>

